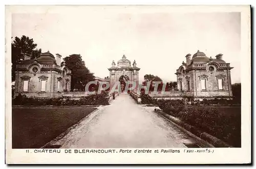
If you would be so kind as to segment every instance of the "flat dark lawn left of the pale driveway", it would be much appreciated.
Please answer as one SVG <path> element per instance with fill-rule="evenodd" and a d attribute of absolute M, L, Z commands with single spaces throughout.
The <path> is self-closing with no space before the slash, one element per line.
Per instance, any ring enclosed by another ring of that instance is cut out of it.
<path fill-rule="evenodd" d="M 13 108 L 12 148 L 40 148 L 95 109 L 93 107 Z"/>

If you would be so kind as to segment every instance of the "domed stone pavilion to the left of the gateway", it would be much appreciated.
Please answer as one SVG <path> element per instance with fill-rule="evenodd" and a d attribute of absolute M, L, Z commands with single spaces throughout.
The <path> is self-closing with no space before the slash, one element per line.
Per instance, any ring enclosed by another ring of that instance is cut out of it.
<path fill-rule="evenodd" d="M 33 98 L 59 98 L 71 89 L 71 70 L 61 63 L 61 55 L 49 51 L 36 59 L 25 59 L 16 66 L 14 96 L 18 93 Z"/>

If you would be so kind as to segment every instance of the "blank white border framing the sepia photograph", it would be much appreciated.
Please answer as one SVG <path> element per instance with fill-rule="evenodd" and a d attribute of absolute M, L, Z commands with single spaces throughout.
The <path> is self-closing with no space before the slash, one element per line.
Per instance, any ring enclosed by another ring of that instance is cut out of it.
<path fill-rule="evenodd" d="M 119 6 L 113 6 L 118 8 Z M 77 8 L 82 8 L 77 6 Z M 87 6 L 88 8 L 88 6 Z M 93 6 L 90 8 L 94 8 Z M 127 7 L 140 12 L 138 6 Z M 172 9 L 173 12 L 241 12 L 241 84 L 242 84 L 242 148 L 215 148 L 211 154 L 199 153 L 114 153 L 114 154 L 54 154 L 26 153 L 25 149 L 12 149 L 11 141 L 11 14 L 12 13 L 59 13 L 76 10 L 72 6 L 6 6 L 6 162 L 11 163 L 249 163 L 251 161 L 251 34 L 249 6 L 144 6 L 143 11 L 152 12 Z M 120 10 L 121 11 L 121 10 Z M 242 76 L 243 75 L 243 76 Z M 62 149 L 64 151 L 65 149 Z M 116 149 L 119 150 L 119 149 Z M 135 149 L 129 149 L 135 150 Z M 152 151 L 156 149 L 151 149 Z M 181 152 L 184 149 L 177 149 Z M 32 149 L 30 151 L 33 151 Z"/>

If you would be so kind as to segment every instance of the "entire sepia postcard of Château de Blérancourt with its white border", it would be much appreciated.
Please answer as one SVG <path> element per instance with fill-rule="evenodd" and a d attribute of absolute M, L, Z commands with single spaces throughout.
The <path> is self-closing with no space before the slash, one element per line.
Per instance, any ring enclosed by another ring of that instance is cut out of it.
<path fill-rule="evenodd" d="M 251 163 L 250 6 L 6 6 L 7 164 Z"/>

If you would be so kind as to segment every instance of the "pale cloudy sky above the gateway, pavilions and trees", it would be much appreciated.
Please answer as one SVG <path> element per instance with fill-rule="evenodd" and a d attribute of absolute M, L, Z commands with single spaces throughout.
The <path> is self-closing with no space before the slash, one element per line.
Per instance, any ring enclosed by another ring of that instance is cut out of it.
<path fill-rule="evenodd" d="M 75 7 L 74 7 L 75 8 Z M 135 7 L 77 8 L 12 14 L 12 37 L 33 38 L 42 52 L 80 54 L 95 76 L 109 76 L 125 55 L 145 74 L 176 81 L 176 69 L 198 50 L 230 63 L 231 83 L 241 82 L 241 16 L 236 12 L 172 12 Z"/>

